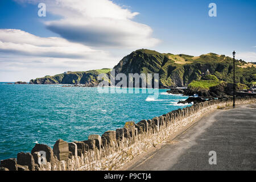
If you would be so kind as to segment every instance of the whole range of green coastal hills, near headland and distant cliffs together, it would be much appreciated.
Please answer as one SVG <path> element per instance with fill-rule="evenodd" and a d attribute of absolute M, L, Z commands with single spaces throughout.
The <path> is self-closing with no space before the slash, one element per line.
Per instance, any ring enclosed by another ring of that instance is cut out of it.
<path fill-rule="evenodd" d="M 211 86 L 218 82 L 233 82 L 233 58 L 216 53 L 201 56 L 174 55 L 159 53 L 148 49 L 139 49 L 123 57 L 114 67 L 117 73 L 159 73 L 159 88 L 188 86 L 193 80 L 200 80 L 209 69 Z M 110 69 L 97 69 L 86 72 L 68 72 L 55 76 L 46 76 L 31 80 L 31 84 L 86 84 L 97 86 L 97 75 L 108 73 Z M 236 82 L 250 84 L 256 82 L 256 64 L 236 60 Z"/>

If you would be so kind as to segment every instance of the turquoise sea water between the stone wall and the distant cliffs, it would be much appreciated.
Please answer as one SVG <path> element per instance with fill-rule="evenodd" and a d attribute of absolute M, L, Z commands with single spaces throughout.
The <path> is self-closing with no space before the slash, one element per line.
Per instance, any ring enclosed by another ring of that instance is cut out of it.
<path fill-rule="evenodd" d="M 139 89 L 142 92 L 142 89 Z M 57 139 L 86 140 L 90 134 L 136 123 L 186 107 L 187 97 L 166 94 L 100 94 L 97 88 L 0 83 L 0 159 L 30 152 L 35 143 L 53 147 Z"/>

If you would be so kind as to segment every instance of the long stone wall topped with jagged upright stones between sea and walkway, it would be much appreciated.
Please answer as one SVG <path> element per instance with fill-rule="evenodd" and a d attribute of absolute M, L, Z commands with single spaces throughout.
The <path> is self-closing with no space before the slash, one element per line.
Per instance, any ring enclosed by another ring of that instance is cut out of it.
<path fill-rule="evenodd" d="M 255 103 L 256 97 L 237 98 L 237 104 Z M 232 106 L 232 100 L 210 100 L 184 109 L 171 111 L 138 123 L 126 122 L 115 131 L 102 136 L 90 135 L 88 140 L 65 142 L 57 140 L 53 149 L 35 144 L 31 153 L 20 152 L 17 158 L 1 160 L 1 170 L 12 171 L 73 171 L 114 170 L 148 148 L 163 142 L 170 135 L 195 122 L 218 107 Z"/>

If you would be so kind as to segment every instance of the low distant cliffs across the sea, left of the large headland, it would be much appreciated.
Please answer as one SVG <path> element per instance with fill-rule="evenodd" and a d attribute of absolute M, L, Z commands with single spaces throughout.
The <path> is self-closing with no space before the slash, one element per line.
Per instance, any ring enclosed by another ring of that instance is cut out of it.
<path fill-rule="evenodd" d="M 97 76 L 100 73 L 109 73 L 110 69 L 97 69 L 87 72 L 67 72 L 55 76 L 45 76 L 30 80 L 30 84 L 84 84 L 85 86 L 97 86 Z"/>

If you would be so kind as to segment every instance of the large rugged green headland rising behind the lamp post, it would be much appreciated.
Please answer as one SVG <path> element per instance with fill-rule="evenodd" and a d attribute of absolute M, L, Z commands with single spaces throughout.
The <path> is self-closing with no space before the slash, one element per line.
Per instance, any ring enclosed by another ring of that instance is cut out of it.
<path fill-rule="evenodd" d="M 225 55 L 208 53 L 201 56 L 173 55 L 148 49 L 139 49 L 125 56 L 114 69 L 118 73 L 159 73 L 159 87 L 187 86 L 198 80 L 209 69 L 219 80 L 232 82 L 233 59 Z M 236 82 L 248 84 L 256 73 L 255 64 L 236 60 Z"/>

